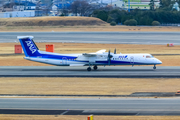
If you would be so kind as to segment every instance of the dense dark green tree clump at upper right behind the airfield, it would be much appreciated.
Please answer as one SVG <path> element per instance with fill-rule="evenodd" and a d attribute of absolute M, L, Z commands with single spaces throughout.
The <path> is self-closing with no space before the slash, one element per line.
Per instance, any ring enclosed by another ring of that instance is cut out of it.
<path fill-rule="evenodd" d="M 180 12 L 172 10 L 172 5 L 174 4 L 174 1 L 169 1 L 169 0 L 162 0 L 162 1 L 163 1 L 162 8 L 159 8 L 154 11 L 153 10 L 144 11 L 144 10 L 135 9 L 132 10 L 131 12 L 127 12 L 119 9 L 113 9 L 110 11 L 98 9 L 93 12 L 92 16 L 100 18 L 101 20 L 108 23 L 114 21 L 116 23 L 122 23 L 125 25 L 152 25 L 153 21 L 158 21 L 159 23 L 179 23 Z M 157 22 L 154 22 L 153 25 L 156 23 Z"/>

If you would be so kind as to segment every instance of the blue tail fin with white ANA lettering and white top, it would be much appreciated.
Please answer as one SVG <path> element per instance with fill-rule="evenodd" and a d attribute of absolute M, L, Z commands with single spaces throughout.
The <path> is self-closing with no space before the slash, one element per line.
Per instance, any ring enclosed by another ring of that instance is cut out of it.
<path fill-rule="evenodd" d="M 33 36 L 18 36 L 26 57 L 40 56 L 39 49 L 33 41 Z"/>

